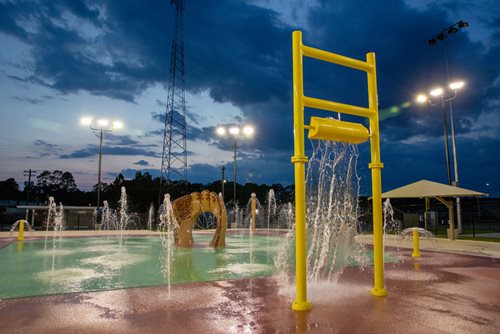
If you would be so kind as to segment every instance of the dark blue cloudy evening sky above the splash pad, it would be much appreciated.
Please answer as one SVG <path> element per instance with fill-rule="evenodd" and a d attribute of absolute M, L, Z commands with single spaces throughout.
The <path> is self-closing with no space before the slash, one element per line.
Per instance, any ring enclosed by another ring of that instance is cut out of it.
<path fill-rule="evenodd" d="M 357 59 L 376 53 L 384 190 L 446 183 L 440 108 L 413 101 L 446 83 L 444 45 L 427 40 L 463 19 L 470 27 L 448 40 L 450 77 L 466 81 L 453 101 L 460 181 L 500 196 L 496 0 L 186 2 L 190 181 L 232 170 L 217 125 L 253 124 L 256 136 L 238 143 L 238 181 L 293 182 L 291 34 L 300 29 L 306 45 Z M 105 136 L 105 182 L 120 172 L 158 175 L 173 14 L 169 0 L 0 0 L 0 179 L 60 169 L 90 189 L 98 137 L 82 116 L 125 124 Z M 306 95 L 367 105 L 363 73 L 314 60 L 304 71 Z M 366 194 L 369 147 L 359 149 Z"/>

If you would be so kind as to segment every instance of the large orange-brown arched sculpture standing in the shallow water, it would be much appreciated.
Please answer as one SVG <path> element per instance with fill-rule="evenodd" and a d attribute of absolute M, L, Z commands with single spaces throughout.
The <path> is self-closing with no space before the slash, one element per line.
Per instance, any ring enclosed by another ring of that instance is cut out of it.
<path fill-rule="evenodd" d="M 217 218 L 215 234 L 210 241 L 212 247 L 226 246 L 227 212 L 224 201 L 216 193 L 203 190 L 179 197 L 172 202 L 174 216 L 179 227 L 174 231 L 175 244 L 193 246 L 193 225 L 199 215 L 211 212 Z"/>

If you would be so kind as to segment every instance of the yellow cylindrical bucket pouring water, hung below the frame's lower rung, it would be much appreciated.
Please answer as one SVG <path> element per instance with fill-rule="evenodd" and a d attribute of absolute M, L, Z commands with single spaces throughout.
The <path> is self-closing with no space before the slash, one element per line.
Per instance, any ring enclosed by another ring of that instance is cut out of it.
<path fill-rule="evenodd" d="M 358 123 L 340 121 L 332 118 L 311 117 L 309 139 L 340 141 L 360 144 L 368 140 L 368 129 Z"/>

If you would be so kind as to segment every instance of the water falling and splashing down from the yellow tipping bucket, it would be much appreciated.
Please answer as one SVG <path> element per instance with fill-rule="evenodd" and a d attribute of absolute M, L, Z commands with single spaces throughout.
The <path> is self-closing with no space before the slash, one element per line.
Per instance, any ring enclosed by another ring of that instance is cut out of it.
<path fill-rule="evenodd" d="M 307 280 L 335 282 L 347 265 L 364 267 L 358 228 L 359 176 L 355 145 L 319 141 L 307 169 Z M 295 223 L 275 258 L 282 287 L 294 284 Z"/>

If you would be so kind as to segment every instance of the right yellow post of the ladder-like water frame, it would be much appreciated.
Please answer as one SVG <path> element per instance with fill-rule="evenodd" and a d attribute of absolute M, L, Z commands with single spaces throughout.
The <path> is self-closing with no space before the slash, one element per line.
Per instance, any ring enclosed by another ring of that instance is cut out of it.
<path fill-rule="evenodd" d="M 374 287 L 371 294 L 374 296 L 387 296 L 384 287 L 384 240 L 382 224 L 382 168 L 380 161 L 380 133 L 378 120 L 378 93 L 375 53 L 366 54 L 366 61 L 373 66 L 368 76 L 368 108 L 370 116 L 370 151 L 371 163 L 368 167 L 372 172 L 372 205 L 373 205 L 373 271 Z"/>

